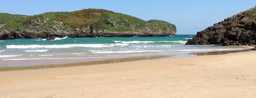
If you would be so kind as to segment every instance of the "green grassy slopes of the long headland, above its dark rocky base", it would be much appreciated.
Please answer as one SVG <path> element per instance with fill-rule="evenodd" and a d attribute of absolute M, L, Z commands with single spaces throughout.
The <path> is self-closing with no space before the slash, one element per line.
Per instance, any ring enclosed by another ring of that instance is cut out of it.
<path fill-rule="evenodd" d="M 174 24 L 162 20 L 144 21 L 125 14 L 90 8 L 74 12 L 47 12 L 33 16 L 0 13 L 0 19 L 0 30 L 22 28 L 56 31 L 140 31 L 148 27 L 151 31 L 166 31 L 167 28 L 171 28 L 176 32 Z"/>

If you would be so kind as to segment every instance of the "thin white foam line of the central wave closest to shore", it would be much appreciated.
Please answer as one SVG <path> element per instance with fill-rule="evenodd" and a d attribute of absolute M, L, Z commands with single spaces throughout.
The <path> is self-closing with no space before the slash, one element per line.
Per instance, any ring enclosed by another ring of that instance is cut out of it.
<path fill-rule="evenodd" d="M 136 52 L 162 52 L 161 50 L 138 50 L 138 51 L 91 51 L 92 53 L 136 53 Z"/>

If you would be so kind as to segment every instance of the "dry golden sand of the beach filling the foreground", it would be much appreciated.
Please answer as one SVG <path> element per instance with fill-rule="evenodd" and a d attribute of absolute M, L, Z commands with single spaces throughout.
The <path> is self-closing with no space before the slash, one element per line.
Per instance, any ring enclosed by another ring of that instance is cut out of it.
<path fill-rule="evenodd" d="M 255 98 L 256 51 L 0 72 L 2 98 Z"/>

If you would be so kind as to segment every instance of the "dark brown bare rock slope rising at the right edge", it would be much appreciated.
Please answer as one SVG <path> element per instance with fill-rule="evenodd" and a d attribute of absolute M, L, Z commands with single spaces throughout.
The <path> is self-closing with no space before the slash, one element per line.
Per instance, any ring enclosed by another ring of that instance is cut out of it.
<path fill-rule="evenodd" d="M 186 45 L 255 45 L 255 40 L 256 7 L 197 32 L 196 37 L 189 39 Z"/>

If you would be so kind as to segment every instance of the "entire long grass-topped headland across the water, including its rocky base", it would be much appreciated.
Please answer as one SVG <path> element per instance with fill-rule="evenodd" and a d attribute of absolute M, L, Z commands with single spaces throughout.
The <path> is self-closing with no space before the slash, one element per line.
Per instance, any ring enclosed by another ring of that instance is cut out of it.
<path fill-rule="evenodd" d="M 102 9 L 47 12 L 33 16 L 0 13 L 0 19 L 0 39 L 176 35 L 174 24 L 162 20 L 144 21 Z"/>

